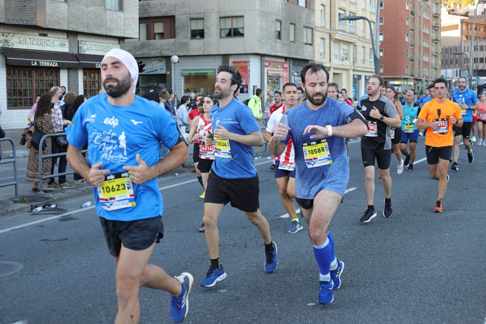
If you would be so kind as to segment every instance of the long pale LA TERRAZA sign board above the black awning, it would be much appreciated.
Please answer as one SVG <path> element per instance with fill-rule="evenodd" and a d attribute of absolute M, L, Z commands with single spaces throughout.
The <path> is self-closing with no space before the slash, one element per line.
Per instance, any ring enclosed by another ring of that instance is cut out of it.
<path fill-rule="evenodd" d="M 3 48 L 36 51 L 68 52 L 67 38 L 54 38 L 14 33 L 0 33 L 0 44 Z"/>

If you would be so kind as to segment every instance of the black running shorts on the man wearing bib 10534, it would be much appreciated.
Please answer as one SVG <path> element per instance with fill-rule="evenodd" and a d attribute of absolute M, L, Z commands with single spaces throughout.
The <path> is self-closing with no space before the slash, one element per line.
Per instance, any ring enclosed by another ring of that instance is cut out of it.
<path fill-rule="evenodd" d="M 245 212 L 256 212 L 260 208 L 258 175 L 249 179 L 224 179 L 214 172 L 209 173 L 205 203 L 223 204 Z"/>

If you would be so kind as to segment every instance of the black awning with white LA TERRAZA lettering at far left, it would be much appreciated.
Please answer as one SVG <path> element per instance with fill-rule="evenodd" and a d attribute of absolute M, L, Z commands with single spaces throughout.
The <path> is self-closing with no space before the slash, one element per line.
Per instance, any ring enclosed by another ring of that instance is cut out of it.
<path fill-rule="evenodd" d="M 38 68 L 79 68 L 80 64 L 74 54 L 24 51 L 3 49 L 7 57 L 7 65 L 20 65 Z"/>

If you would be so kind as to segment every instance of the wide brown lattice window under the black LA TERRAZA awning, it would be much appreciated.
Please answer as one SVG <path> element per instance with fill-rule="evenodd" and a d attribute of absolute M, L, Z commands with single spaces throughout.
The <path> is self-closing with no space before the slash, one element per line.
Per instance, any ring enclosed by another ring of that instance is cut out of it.
<path fill-rule="evenodd" d="M 11 68 L 7 66 L 7 109 L 31 108 L 35 95 L 59 86 L 59 70 Z"/>

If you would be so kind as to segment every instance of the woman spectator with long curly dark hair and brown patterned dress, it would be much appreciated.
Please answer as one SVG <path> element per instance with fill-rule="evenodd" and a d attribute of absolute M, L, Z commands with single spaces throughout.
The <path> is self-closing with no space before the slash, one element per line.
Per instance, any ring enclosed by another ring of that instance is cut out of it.
<path fill-rule="evenodd" d="M 54 127 L 51 122 L 51 108 L 52 108 L 52 96 L 42 95 L 37 102 L 37 108 L 34 114 L 35 131 L 42 134 L 54 134 Z M 48 155 L 52 153 L 52 137 L 46 137 L 44 139 L 46 143 L 45 148 L 42 149 L 42 155 Z M 52 157 L 42 159 L 42 176 L 51 175 L 51 163 Z M 33 183 L 32 191 L 39 191 L 39 150 L 34 147 L 30 148 L 29 159 L 27 160 L 27 181 Z M 42 179 L 44 192 L 50 192 L 47 189 L 47 182 L 49 179 Z"/>

